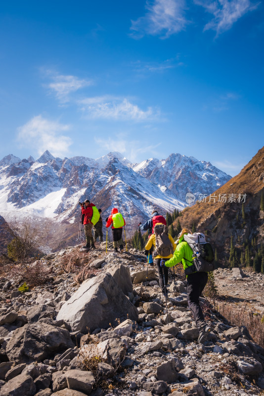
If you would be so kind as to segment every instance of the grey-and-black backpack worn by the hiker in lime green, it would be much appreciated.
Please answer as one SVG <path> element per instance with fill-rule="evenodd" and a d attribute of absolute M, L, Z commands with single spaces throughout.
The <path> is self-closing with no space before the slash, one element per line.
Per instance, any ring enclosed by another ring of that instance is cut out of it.
<path fill-rule="evenodd" d="M 215 259 L 214 251 L 209 242 L 206 242 L 205 235 L 195 232 L 194 234 L 184 235 L 183 238 L 193 251 L 193 262 L 183 257 L 186 261 L 192 263 L 192 265 L 185 268 L 185 275 L 189 275 L 194 272 L 214 271 L 216 269 L 215 264 L 213 263 Z"/>

